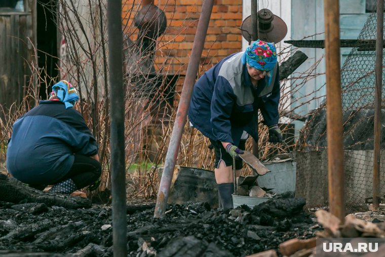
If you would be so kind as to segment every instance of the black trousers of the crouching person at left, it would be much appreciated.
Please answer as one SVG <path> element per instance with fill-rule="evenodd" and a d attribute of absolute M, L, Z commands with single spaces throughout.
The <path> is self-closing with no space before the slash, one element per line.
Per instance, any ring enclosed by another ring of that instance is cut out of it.
<path fill-rule="evenodd" d="M 81 189 L 91 185 L 100 177 L 102 173 L 100 162 L 85 155 L 76 154 L 74 156 L 75 160 L 71 169 L 54 184 L 70 178 L 75 183 L 76 188 Z"/>

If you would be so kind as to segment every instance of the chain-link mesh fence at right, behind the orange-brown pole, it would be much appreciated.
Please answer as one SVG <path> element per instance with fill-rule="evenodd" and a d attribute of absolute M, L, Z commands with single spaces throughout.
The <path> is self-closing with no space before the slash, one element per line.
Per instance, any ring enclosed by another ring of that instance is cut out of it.
<path fill-rule="evenodd" d="M 347 212 L 366 207 L 373 196 L 373 142 L 376 13 L 371 13 L 341 69 L 345 203 Z M 353 41 L 352 41 L 353 42 Z M 385 63 L 385 60 L 383 60 Z M 384 72 L 384 71 L 382 71 Z M 385 96 L 382 77 L 382 99 Z M 309 117 L 297 153 L 296 195 L 307 207 L 328 205 L 326 100 Z M 385 110 L 381 109 L 382 123 Z M 383 126 L 381 130 L 385 131 Z M 385 170 L 385 133 L 381 133 L 380 170 Z M 380 171 L 380 196 L 385 195 L 385 173 Z"/>

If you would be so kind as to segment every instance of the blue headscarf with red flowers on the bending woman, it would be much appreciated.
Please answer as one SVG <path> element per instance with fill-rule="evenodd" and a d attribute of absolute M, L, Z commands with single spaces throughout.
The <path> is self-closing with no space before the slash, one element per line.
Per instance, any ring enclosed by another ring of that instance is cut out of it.
<path fill-rule="evenodd" d="M 277 62 L 277 50 L 274 43 L 254 41 L 242 56 L 242 63 L 264 71 L 270 71 Z"/>

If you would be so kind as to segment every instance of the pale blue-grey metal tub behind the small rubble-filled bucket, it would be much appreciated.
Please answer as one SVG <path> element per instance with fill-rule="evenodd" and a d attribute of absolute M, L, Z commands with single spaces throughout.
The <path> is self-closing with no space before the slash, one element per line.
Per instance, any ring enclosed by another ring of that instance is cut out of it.
<path fill-rule="evenodd" d="M 271 191 L 278 194 L 295 192 L 295 161 L 290 159 L 281 162 L 264 163 L 264 165 L 272 172 L 258 176 L 257 182 L 259 187 L 273 188 Z"/>

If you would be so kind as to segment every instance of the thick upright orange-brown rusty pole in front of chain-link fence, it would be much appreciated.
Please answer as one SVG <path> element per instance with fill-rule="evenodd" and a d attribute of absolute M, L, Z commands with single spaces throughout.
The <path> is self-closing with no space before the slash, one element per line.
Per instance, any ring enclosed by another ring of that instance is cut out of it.
<path fill-rule="evenodd" d="M 339 49 L 339 1 L 324 0 L 326 53 L 326 124 L 330 212 L 343 223 L 343 144 L 341 71 Z"/>

